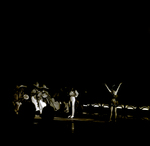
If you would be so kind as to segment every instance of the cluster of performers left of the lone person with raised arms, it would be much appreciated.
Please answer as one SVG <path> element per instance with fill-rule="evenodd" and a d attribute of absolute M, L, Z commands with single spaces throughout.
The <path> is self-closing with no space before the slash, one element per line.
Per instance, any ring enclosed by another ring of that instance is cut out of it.
<path fill-rule="evenodd" d="M 55 101 L 54 98 L 51 97 L 48 90 L 49 88 L 43 84 L 43 86 L 39 86 L 39 83 L 36 82 L 33 84 L 33 89 L 30 92 L 30 95 L 25 94 L 25 89 L 27 86 L 20 85 L 16 86 L 14 98 L 13 98 L 13 105 L 14 111 L 16 114 L 19 113 L 19 108 L 24 102 L 32 102 L 35 105 L 35 113 L 36 115 L 41 115 L 43 108 L 46 106 L 53 107 L 54 111 L 59 110 L 58 101 Z M 58 94 L 58 93 L 57 93 Z M 71 115 L 68 118 L 73 118 L 75 114 L 75 101 L 78 97 L 79 93 L 74 88 L 71 89 L 69 92 L 70 100 L 68 103 L 63 102 L 65 104 L 65 111 L 69 112 L 69 107 L 71 107 Z"/>

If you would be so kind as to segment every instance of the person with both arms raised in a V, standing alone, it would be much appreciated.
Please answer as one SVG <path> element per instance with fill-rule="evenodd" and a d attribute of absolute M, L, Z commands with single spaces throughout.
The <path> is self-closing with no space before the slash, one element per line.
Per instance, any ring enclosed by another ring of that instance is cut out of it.
<path fill-rule="evenodd" d="M 109 121 L 112 121 L 112 115 L 113 115 L 113 109 L 115 110 L 115 122 L 116 122 L 116 118 L 117 118 L 117 105 L 118 105 L 118 101 L 116 100 L 118 95 L 118 91 L 119 91 L 119 88 L 121 86 L 122 83 L 119 84 L 117 90 L 115 91 L 114 90 L 114 87 L 115 85 L 112 86 L 112 89 L 110 90 L 109 87 L 107 86 L 107 84 L 105 84 L 106 88 L 108 89 L 108 91 L 112 94 L 112 99 L 111 99 L 111 113 L 110 113 L 110 120 Z"/>

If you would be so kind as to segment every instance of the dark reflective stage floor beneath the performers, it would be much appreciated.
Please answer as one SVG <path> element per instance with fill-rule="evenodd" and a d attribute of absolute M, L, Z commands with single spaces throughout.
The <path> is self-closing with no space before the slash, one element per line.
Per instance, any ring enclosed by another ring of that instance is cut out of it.
<path fill-rule="evenodd" d="M 55 145 L 70 145 L 70 139 L 78 145 L 81 141 L 82 145 L 89 144 L 89 142 L 92 142 L 91 145 L 93 145 L 101 142 L 112 144 L 118 140 L 122 140 L 126 144 L 132 140 L 132 144 L 135 144 L 137 140 L 149 139 L 147 134 L 150 131 L 149 120 L 118 117 L 116 122 L 108 122 L 108 118 L 107 115 L 105 118 L 83 115 L 73 119 L 57 116 L 51 122 L 43 122 L 41 117 L 35 116 L 34 124 L 22 124 L 16 125 L 12 129 L 9 128 L 6 137 L 13 135 L 14 140 L 23 139 L 25 142 L 31 139 L 34 145 L 35 143 L 43 145 L 47 141 L 53 142 Z M 12 120 L 10 120 L 11 122 Z"/>

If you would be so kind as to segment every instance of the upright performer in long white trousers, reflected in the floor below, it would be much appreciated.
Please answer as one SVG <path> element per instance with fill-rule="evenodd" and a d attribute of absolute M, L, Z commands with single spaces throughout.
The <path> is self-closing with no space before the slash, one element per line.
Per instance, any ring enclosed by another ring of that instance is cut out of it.
<path fill-rule="evenodd" d="M 76 98 L 78 97 L 79 93 L 77 90 L 74 90 L 74 88 L 72 88 L 69 95 L 70 95 L 69 104 L 71 103 L 72 115 L 68 116 L 68 118 L 73 118 L 74 114 L 75 114 L 75 101 L 76 101 Z"/>

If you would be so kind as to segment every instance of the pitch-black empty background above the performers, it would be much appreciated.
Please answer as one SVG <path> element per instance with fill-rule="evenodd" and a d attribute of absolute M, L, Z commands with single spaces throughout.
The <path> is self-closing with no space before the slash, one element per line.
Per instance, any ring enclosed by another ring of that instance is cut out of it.
<path fill-rule="evenodd" d="M 38 81 L 51 90 L 87 89 L 96 101 L 108 94 L 104 83 L 123 82 L 122 99 L 148 103 L 150 28 L 145 14 L 20 11 L 9 12 L 4 21 L 2 78 L 9 90 Z"/>

